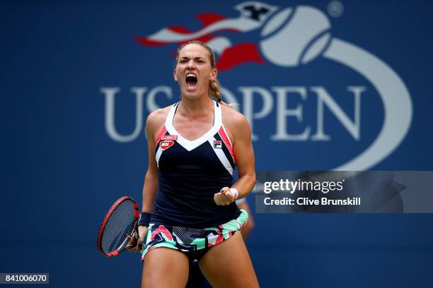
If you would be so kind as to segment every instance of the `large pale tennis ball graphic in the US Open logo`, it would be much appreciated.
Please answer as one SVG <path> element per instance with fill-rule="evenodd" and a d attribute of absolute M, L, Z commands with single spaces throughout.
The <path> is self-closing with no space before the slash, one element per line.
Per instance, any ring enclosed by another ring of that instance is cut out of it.
<path fill-rule="evenodd" d="M 310 6 L 285 8 L 270 18 L 260 35 L 260 50 L 277 66 L 298 66 L 321 55 L 330 41 L 330 22 Z"/>

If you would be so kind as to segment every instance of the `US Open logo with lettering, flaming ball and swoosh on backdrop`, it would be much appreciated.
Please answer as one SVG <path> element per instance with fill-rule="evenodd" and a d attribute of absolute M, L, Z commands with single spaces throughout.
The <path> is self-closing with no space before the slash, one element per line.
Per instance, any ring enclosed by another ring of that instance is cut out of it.
<path fill-rule="evenodd" d="M 190 40 L 201 40 L 212 47 L 217 54 L 216 65 L 219 71 L 229 71 L 231 68 L 246 62 L 273 64 L 280 68 L 294 68 L 309 64 L 319 57 L 350 68 L 354 73 L 359 74 L 371 83 L 379 94 L 384 110 L 383 124 L 376 139 L 364 151 L 348 160 L 345 164 L 335 167 L 335 169 L 369 169 L 396 150 L 410 128 L 412 100 L 405 83 L 388 64 L 355 44 L 333 37 L 328 17 L 312 6 L 277 7 L 260 1 L 247 1 L 234 6 L 234 8 L 240 14 L 237 18 L 226 18 L 216 13 L 204 13 L 197 16 L 203 24 L 200 30 L 190 31 L 181 26 L 168 27 L 146 37 L 137 37 L 136 40 L 146 47 L 160 47 L 172 43 L 180 44 Z M 236 42 L 238 33 L 252 32 L 254 30 L 260 31 L 260 39 L 257 42 Z M 224 33 L 219 35 L 219 32 Z M 230 35 L 234 36 L 231 37 Z M 272 95 L 268 90 L 260 90 L 261 88 L 258 89 L 257 87 L 240 87 L 238 90 L 243 93 L 244 100 L 250 99 L 252 101 L 253 88 L 255 92 L 262 96 L 264 108 L 260 112 L 253 112 L 252 104 L 244 101 L 243 113 L 252 127 L 252 120 L 263 118 L 270 113 L 273 106 Z M 116 89 L 101 88 L 101 91 L 105 93 L 106 112 L 110 112 L 109 108 L 114 107 L 114 95 L 119 92 L 119 89 Z M 138 88 L 134 89 L 137 90 Z M 132 89 L 132 92 L 135 92 L 134 89 Z M 155 90 L 149 91 L 147 100 L 148 107 L 151 109 L 157 108 L 155 102 L 152 102 L 156 92 L 166 92 L 169 99 L 173 97 L 171 90 L 165 88 L 165 86 L 159 86 Z M 311 86 L 310 91 L 318 95 L 318 128 L 316 134 L 311 136 L 312 140 L 325 141 L 330 138 L 323 133 L 323 107 L 325 105 L 337 116 L 337 119 L 351 133 L 354 139 L 359 140 L 360 122 L 357 119 L 360 117 L 360 97 L 364 87 L 348 86 L 347 90 L 354 95 L 354 121 L 351 121 L 342 112 L 337 102 L 330 97 L 323 87 Z M 288 137 L 293 135 L 287 133 L 285 124 L 288 115 L 296 116 L 298 121 L 302 119 L 302 114 L 300 114 L 302 112 L 299 109 L 285 109 L 287 93 L 295 92 L 301 95 L 302 99 L 305 99 L 306 88 L 297 86 L 275 87 L 272 88 L 272 91 L 277 92 L 277 101 L 279 102 L 276 106 L 277 133 L 271 137 L 271 140 L 306 139 L 304 136 L 308 135 L 304 135 L 305 133 L 296 135 L 301 136 L 299 138 Z M 141 98 L 138 92 L 141 93 Z M 136 92 L 137 105 L 142 105 L 142 97 L 146 89 L 138 92 Z M 231 98 L 229 100 L 234 98 L 233 94 L 226 89 L 223 89 L 223 95 Z M 111 114 L 114 115 L 114 112 Z M 138 117 L 139 115 L 137 115 L 137 123 L 142 121 Z M 107 115 L 105 119 L 108 134 L 112 136 L 114 135 L 112 131 L 115 131 L 115 129 L 110 130 Z M 138 133 L 140 127 L 136 127 L 135 131 Z M 134 137 L 137 137 L 137 135 Z M 253 135 L 253 138 L 255 138 L 255 135 Z M 119 137 L 119 139 L 121 138 Z M 255 139 L 257 140 L 257 137 Z"/>

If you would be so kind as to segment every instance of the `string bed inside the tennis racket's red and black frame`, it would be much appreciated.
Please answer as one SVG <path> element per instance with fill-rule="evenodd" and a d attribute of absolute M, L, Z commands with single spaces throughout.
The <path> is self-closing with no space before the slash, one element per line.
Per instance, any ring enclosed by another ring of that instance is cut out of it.
<path fill-rule="evenodd" d="M 105 253 L 112 253 L 122 246 L 133 222 L 134 203 L 131 200 L 125 200 L 115 208 L 105 225 L 101 241 Z"/>

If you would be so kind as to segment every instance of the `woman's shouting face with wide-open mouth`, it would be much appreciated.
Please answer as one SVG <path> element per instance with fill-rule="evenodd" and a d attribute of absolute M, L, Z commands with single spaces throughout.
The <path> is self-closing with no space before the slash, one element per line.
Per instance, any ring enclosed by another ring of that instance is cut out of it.
<path fill-rule="evenodd" d="M 217 78 L 217 69 L 212 68 L 206 48 L 200 44 L 187 44 L 179 52 L 174 78 L 183 97 L 197 99 L 207 95 L 209 80 Z"/>

